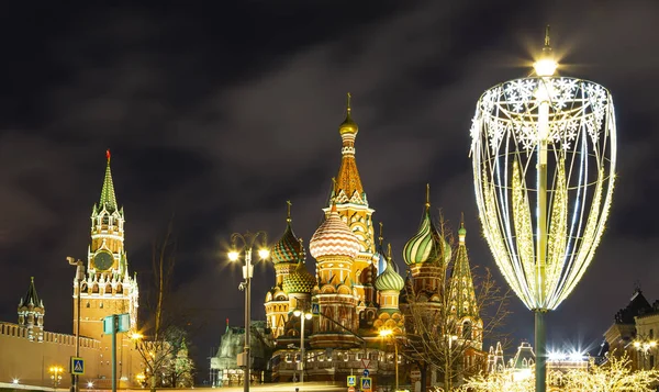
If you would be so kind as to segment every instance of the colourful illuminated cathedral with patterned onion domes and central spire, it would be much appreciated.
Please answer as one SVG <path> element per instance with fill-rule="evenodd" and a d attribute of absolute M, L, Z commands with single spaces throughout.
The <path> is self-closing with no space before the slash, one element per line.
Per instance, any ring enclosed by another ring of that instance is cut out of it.
<path fill-rule="evenodd" d="M 359 128 L 353 120 L 349 94 L 338 132 L 342 158 L 328 203 L 320 206 L 324 221 L 306 249 L 294 234 L 289 202 L 283 235 L 271 249 L 276 278 L 265 309 L 276 341 L 272 380 L 293 381 L 303 372 L 305 380 L 344 381 L 346 376 L 368 369 L 376 380 L 391 381 L 398 361 L 401 383 L 410 381 L 404 352 L 394 358 L 392 343 L 403 350 L 406 335 L 414 328 L 412 309 L 421 307 L 440 310 L 451 317 L 460 331 L 455 338 L 469 341 L 472 351 L 482 356 L 482 321 L 463 225 L 453 255 L 433 221 L 427 192 L 420 228 L 403 250 L 407 267 L 403 278 L 391 246 L 386 250 L 381 224 L 380 235 L 375 234 L 375 210 L 357 169 Z M 308 267 L 308 250 L 315 261 L 313 268 Z M 295 316 L 300 312 L 302 315 Z M 313 317 L 303 323 L 305 312 Z M 302 325 L 304 358 L 300 357 Z M 384 339 L 382 331 L 394 341 Z"/>

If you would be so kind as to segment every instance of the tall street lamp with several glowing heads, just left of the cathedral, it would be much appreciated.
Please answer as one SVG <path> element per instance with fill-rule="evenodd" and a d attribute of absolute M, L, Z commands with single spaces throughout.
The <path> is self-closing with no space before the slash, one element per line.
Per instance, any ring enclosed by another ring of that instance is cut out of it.
<path fill-rule="evenodd" d="M 241 284 L 238 285 L 239 290 L 245 290 L 245 350 L 244 352 L 238 355 L 238 366 L 242 366 L 245 368 L 245 381 L 244 381 L 244 390 L 245 392 L 249 392 L 249 382 L 250 382 L 250 376 L 249 376 L 249 368 L 252 367 L 252 360 L 249 357 L 249 349 L 250 349 L 250 340 L 249 340 L 249 324 L 250 324 L 250 318 L 252 318 L 252 309 L 250 309 L 250 281 L 252 281 L 252 275 L 254 272 L 254 266 L 252 265 L 252 248 L 254 247 L 254 243 L 256 242 L 257 238 L 263 238 L 263 243 L 260 244 L 260 248 L 258 249 L 258 257 L 261 260 L 267 259 L 270 256 L 270 250 L 268 250 L 266 244 L 268 240 L 267 234 L 265 232 L 257 232 L 257 233 L 245 233 L 245 234 L 239 234 L 239 233 L 234 233 L 231 235 L 231 251 L 228 253 L 228 259 L 231 261 L 237 261 L 241 258 L 241 253 L 244 251 L 245 257 L 244 257 L 244 261 L 245 265 L 243 266 L 243 279 L 245 279 L 243 282 L 241 282 Z M 238 248 L 236 247 L 236 243 L 237 240 L 241 240 L 243 243 L 243 247 Z"/>

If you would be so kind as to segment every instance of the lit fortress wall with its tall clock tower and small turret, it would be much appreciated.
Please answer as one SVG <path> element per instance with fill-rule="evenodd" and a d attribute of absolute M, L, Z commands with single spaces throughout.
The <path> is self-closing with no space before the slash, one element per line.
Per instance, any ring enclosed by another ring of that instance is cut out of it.
<path fill-rule="evenodd" d="M 92 209 L 87 276 L 80 282 L 79 295 L 83 379 L 100 389 L 110 388 L 112 374 L 111 335 L 103 335 L 103 317 L 129 313 L 133 329 L 137 323 L 138 288 L 129 273 L 123 242 L 124 213 L 116 203 L 108 153 L 100 202 Z M 48 369 L 68 369 L 69 358 L 76 355 L 78 281 L 75 279 L 72 288 L 72 334 L 46 332 L 44 301 L 37 295 L 34 279 L 31 280 L 27 293 L 19 302 L 18 324 L 0 322 L 0 383 L 15 379 L 21 384 L 53 387 Z M 129 334 L 118 334 L 116 340 L 118 385 L 136 385 L 142 363 L 139 355 Z M 31 360 L 34 358 L 40 360 Z M 58 387 L 68 385 L 70 378 L 63 377 Z"/>

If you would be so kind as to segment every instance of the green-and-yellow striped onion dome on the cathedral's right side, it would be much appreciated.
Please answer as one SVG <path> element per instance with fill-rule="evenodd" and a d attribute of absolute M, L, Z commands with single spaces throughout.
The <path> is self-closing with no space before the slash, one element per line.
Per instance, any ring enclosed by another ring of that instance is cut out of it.
<path fill-rule="evenodd" d="M 425 212 L 418 232 L 405 244 L 403 258 L 411 266 L 422 262 L 448 264 L 450 245 L 442 238 L 431 216 L 429 184 L 426 186 Z M 443 260 L 444 256 L 444 260 Z"/>

